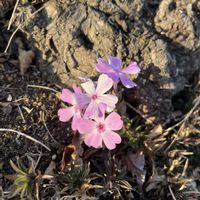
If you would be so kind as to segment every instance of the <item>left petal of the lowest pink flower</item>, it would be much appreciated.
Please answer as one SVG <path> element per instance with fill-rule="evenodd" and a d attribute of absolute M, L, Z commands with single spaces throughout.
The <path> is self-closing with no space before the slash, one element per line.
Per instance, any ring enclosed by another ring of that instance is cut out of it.
<path fill-rule="evenodd" d="M 84 118 L 79 118 L 78 120 L 78 131 L 81 134 L 92 133 L 96 128 L 96 123 Z"/>

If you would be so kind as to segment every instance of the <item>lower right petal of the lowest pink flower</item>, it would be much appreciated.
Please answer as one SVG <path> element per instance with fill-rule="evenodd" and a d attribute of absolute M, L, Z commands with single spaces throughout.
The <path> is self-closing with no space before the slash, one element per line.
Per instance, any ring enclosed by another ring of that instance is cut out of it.
<path fill-rule="evenodd" d="M 121 137 L 114 131 L 105 131 L 102 133 L 103 142 L 110 150 L 115 149 L 116 144 L 121 143 Z"/>

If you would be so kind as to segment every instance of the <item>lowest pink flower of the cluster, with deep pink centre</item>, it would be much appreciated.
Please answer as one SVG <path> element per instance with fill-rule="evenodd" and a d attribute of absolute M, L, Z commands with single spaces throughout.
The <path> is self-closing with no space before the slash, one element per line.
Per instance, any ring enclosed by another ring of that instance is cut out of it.
<path fill-rule="evenodd" d="M 116 112 L 110 113 L 106 119 L 104 117 L 95 118 L 95 121 L 81 118 L 79 120 L 78 131 L 85 134 L 84 142 L 87 146 L 94 148 L 102 147 L 102 143 L 109 149 L 115 149 L 116 144 L 121 143 L 121 137 L 114 131 L 123 127 L 123 121 Z"/>

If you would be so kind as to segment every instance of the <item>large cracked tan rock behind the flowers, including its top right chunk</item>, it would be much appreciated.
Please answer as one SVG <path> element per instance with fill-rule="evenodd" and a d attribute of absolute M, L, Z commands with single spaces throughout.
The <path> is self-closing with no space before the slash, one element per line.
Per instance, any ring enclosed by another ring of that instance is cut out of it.
<path fill-rule="evenodd" d="M 137 61 L 142 68 L 136 80 L 143 102 L 139 109 L 165 120 L 173 110 L 173 95 L 199 69 L 199 2 L 155 5 L 144 0 L 49 1 L 23 30 L 44 78 L 54 83 L 70 86 L 79 77 L 97 75 L 98 57 L 119 56 L 124 65 Z"/>

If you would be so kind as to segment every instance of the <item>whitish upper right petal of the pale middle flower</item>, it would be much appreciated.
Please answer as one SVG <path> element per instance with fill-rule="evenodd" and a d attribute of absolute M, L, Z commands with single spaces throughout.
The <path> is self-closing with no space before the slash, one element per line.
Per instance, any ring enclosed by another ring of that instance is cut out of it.
<path fill-rule="evenodd" d="M 112 85 L 112 79 L 109 78 L 106 74 L 101 74 L 97 82 L 96 92 L 98 94 L 104 94 L 112 87 Z"/>

